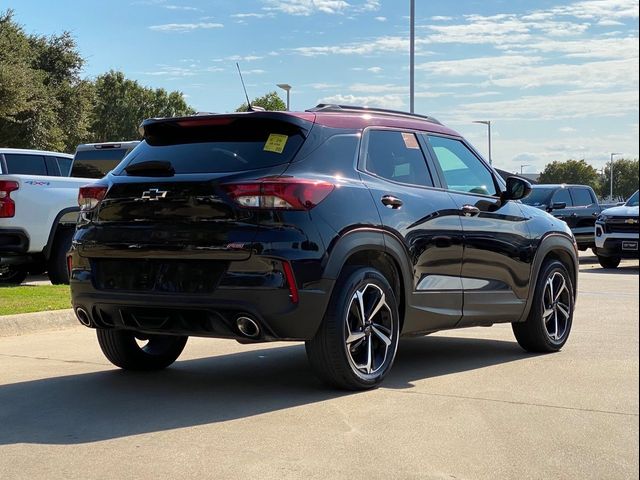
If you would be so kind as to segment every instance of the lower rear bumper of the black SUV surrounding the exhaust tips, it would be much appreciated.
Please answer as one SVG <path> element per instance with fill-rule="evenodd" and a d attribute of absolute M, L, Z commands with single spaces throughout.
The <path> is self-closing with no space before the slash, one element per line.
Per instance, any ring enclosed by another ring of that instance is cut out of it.
<path fill-rule="evenodd" d="M 327 307 L 333 281 L 299 291 L 293 303 L 286 289 L 218 288 L 208 295 L 105 292 L 91 281 L 71 281 L 74 310 L 88 312 L 94 328 L 127 329 L 240 341 L 308 340 Z M 240 333 L 236 319 L 248 316 L 260 327 L 255 338 Z"/>

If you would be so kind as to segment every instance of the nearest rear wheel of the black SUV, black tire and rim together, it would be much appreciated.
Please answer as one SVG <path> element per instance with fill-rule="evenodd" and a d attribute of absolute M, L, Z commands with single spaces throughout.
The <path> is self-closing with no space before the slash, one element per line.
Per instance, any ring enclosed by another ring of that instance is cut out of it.
<path fill-rule="evenodd" d="M 373 268 L 349 269 L 336 282 L 322 324 L 305 347 L 325 383 L 365 390 L 391 370 L 399 336 L 398 306 L 387 279 Z"/>

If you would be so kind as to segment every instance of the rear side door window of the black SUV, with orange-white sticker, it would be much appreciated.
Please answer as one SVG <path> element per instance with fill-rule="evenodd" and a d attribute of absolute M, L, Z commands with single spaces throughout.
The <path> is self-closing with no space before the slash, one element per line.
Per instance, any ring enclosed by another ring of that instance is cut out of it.
<path fill-rule="evenodd" d="M 365 166 L 368 172 L 395 182 L 433 186 L 420 144 L 413 133 L 370 131 Z"/>

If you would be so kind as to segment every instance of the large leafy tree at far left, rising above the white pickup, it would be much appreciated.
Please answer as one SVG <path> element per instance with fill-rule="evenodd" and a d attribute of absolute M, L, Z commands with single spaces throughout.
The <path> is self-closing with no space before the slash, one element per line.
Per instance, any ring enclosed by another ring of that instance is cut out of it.
<path fill-rule="evenodd" d="M 12 10 L 1 13 L 0 146 L 75 148 L 90 114 L 88 90 L 79 77 L 83 63 L 68 32 L 27 35 Z"/>

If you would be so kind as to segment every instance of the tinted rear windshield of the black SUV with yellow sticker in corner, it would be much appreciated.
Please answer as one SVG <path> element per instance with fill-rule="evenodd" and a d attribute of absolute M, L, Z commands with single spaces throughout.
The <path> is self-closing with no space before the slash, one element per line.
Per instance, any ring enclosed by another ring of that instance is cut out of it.
<path fill-rule="evenodd" d="M 137 163 L 170 162 L 176 174 L 254 170 L 289 163 L 304 142 L 295 125 L 268 119 L 213 119 L 157 125 L 114 172 Z"/>

